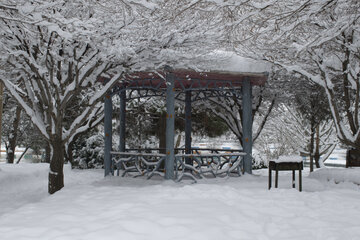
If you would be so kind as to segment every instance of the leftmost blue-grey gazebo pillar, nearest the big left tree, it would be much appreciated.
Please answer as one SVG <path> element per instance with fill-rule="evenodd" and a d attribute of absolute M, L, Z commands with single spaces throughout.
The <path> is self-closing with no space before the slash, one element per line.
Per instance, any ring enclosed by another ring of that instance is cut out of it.
<path fill-rule="evenodd" d="M 105 131 L 105 149 L 104 149 L 104 167 L 105 176 L 112 174 L 111 171 L 111 148 L 112 148 L 112 100 L 110 94 L 105 96 L 104 106 L 104 131 Z"/>

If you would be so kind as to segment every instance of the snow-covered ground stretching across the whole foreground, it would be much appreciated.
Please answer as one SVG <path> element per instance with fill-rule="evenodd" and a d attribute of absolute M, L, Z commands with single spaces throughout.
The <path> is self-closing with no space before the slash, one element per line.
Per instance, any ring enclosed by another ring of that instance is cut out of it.
<path fill-rule="evenodd" d="M 281 172 L 174 183 L 65 169 L 46 193 L 46 164 L 0 164 L 0 239 L 359 239 L 360 169 L 323 169 L 303 192 Z M 356 182 L 357 184 L 354 184 Z"/>

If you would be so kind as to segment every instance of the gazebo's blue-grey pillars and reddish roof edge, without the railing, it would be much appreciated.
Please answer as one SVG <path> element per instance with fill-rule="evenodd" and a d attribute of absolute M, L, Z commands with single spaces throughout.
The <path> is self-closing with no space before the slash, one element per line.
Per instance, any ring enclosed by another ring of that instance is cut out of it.
<path fill-rule="evenodd" d="M 228 97 L 242 99 L 243 126 L 243 169 L 251 173 L 252 169 L 252 86 L 264 85 L 268 74 L 229 71 L 197 72 L 189 69 L 165 67 L 162 71 L 135 72 L 128 74 L 116 84 L 105 97 L 105 176 L 113 174 L 112 155 L 112 96 L 120 96 L 120 144 L 117 153 L 129 154 L 125 149 L 125 117 L 127 91 L 137 90 L 137 97 L 164 96 L 166 98 L 166 151 L 164 157 L 165 179 L 175 177 L 175 100 L 185 102 L 185 154 L 191 154 L 191 104 L 208 97 Z M 160 156 L 160 155 L 159 155 Z M 185 159 L 185 158 L 184 158 Z M 190 164 L 190 163 L 189 163 Z M 185 165 L 184 165 L 185 166 Z M 230 164 L 231 166 L 231 164 Z M 195 171 L 195 170 L 194 170 Z M 196 171 L 195 171 L 196 172 Z"/>

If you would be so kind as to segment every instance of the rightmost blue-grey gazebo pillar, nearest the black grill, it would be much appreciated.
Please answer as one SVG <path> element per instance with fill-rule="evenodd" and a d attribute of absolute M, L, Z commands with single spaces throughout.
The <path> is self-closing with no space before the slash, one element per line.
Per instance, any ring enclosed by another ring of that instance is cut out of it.
<path fill-rule="evenodd" d="M 243 151 L 244 170 L 251 174 L 252 172 L 252 88 L 249 79 L 242 82 L 242 128 L 243 128 Z"/>

